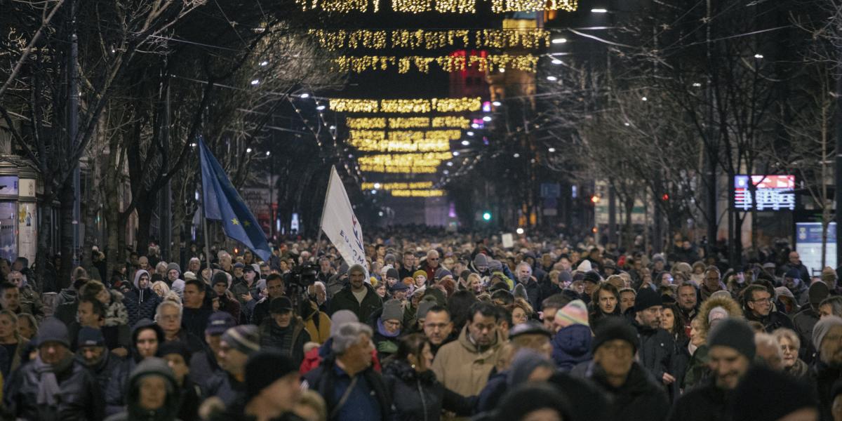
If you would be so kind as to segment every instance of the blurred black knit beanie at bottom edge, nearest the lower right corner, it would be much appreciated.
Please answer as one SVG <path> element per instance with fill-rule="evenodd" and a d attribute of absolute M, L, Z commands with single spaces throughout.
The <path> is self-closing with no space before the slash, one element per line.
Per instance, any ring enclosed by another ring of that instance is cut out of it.
<path fill-rule="evenodd" d="M 739 402 L 733 405 L 734 421 L 776 421 L 802 408 L 818 408 L 813 387 L 763 366 L 745 373 L 733 402 Z"/>

